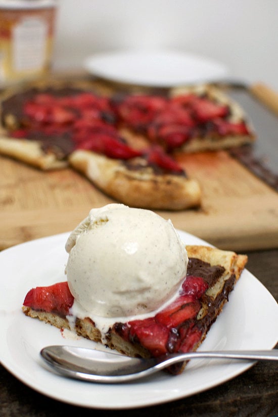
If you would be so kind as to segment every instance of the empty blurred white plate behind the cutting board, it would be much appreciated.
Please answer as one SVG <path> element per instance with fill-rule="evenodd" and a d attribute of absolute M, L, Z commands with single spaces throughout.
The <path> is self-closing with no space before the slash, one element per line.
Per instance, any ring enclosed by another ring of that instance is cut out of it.
<path fill-rule="evenodd" d="M 153 87 L 172 87 L 223 80 L 222 63 L 172 51 L 115 51 L 86 58 L 84 68 L 112 81 Z"/>

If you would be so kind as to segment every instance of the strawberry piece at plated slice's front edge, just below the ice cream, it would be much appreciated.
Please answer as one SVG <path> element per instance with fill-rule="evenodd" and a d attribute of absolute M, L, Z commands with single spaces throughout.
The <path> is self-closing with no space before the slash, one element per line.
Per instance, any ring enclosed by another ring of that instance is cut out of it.
<path fill-rule="evenodd" d="M 168 330 L 154 317 L 145 320 L 130 321 L 130 340 L 139 341 L 153 356 L 160 356 L 167 352 Z"/>

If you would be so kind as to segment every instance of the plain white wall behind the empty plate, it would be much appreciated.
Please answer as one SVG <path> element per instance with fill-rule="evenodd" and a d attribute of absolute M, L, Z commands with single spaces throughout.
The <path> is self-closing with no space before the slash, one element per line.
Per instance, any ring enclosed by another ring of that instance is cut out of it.
<path fill-rule="evenodd" d="M 138 48 L 209 57 L 278 91 L 278 0 L 59 0 L 54 68 Z"/>

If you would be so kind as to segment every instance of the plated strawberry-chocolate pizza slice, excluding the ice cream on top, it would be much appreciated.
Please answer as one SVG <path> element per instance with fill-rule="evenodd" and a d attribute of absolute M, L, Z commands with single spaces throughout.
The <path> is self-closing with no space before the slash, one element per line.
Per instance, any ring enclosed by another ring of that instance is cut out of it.
<path fill-rule="evenodd" d="M 23 312 L 59 329 L 71 329 L 129 356 L 160 356 L 196 350 L 205 339 L 247 262 L 245 255 L 207 246 L 187 246 L 189 263 L 179 294 L 147 318 L 111 322 L 107 332 L 91 317 L 74 316 L 68 282 L 31 289 Z M 186 363 L 171 366 L 180 373 Z"/>

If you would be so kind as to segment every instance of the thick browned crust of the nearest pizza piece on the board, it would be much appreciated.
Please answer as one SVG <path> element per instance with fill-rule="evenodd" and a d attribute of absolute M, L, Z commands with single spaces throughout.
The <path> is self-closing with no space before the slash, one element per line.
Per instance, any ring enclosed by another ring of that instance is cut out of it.
<path fill-rule="evenodd" d="M 75 151 L 70 165 L 109 196 L 131 207 L 182 210 L 199 206 L 201 189 L 195 179 L 155 174 L 151 167 L 129 170 L 121 160 L 90 151 Z"/>

